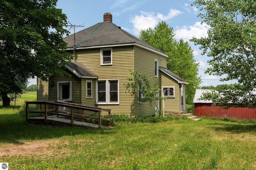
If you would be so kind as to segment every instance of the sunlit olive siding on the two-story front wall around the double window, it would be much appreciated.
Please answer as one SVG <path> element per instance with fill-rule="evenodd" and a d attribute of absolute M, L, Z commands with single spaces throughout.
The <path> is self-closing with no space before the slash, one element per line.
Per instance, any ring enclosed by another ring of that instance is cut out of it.
<path fill-rule="evenodd" d="M 76 62 L 82 63 L 98 76 L 98 80 L 119 80 L 119 104 L 99 104 L 96 106 L 111 109 L 111 113 L 133 115 L 131 110 L 134 97 L 125 92 L 124 85 L 130 77 L 129 70 L 134 70 L 134 47 L 113 47 L 112 65 L 100 65 L 100 48 L 76 50 Z M 95 105 L 95 84 L 93 84 Z"/>

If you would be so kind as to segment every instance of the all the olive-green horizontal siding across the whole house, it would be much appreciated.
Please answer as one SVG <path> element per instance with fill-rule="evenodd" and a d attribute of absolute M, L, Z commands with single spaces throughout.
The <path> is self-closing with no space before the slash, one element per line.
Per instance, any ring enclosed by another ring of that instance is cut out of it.
<path fill-rule="evenodd" d="M 108 48 L 109 49 L 109 48 Z M 142 115 L 150 116 L 155 114 L 154 103 L 150 106 L 148 102 L 143 104 L 134 104 L 138 101 L 138 95 L 132 96 L 126 93 L 124 84 L 128 83 L 128 77 L 131 77 L 129 70 L 143 72 L 155 80 L 154 64 L 158 61 L 158 66 L 166 68 L 166 57 L 149 51 L 147 49 L 130 45 L 112 48 L 112 65 L 100 65 L 100 48 L 77 49 L 73 62 L 82 63 L 86 68 L 94 72 L 98 79 L 78 78 L 71 72 L 70 78 L 52 76 L 50 81 L 55 82 L 54 86 L 48 86 L 48 82 L 38 79 L 38 100 L 57 100 L 57 82 L 72 82 L 72 101 L 76 104 L 87 106 L 97 106 L 111 109 L 111 113 L 123 114 L 128 116 Z M 73 54 L 73 51 L 69 51 Z M 96 104 L 96 84 L 100 80 L 118 80 L 119 81 L 119 104 Z M 86 98 L 86 81 L 92 81 L 92 98 Z M 181 111 L 180 88 L 176 80 L 158 71 L 159 96 L 162 95 L 162 86 L 175 86 L 175 97 L 165 100 L 165 111 Z M 185 88 L 184 88 L 185 90 Z M 49 94 L 49 96 L 48 96 Z M 163 101 L 159 102 L 160 110 L 163 109 Z M 87 112 L 86 112 L 87 113 Z"/>

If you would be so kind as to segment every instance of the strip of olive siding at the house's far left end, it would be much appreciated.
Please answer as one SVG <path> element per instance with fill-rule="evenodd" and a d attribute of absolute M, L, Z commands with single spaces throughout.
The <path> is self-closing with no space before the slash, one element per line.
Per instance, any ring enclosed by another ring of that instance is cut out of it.
<path fill-rule="evenodd" d="M 48 101 L 48 82 L 37 78 L 37 101 Z"/>

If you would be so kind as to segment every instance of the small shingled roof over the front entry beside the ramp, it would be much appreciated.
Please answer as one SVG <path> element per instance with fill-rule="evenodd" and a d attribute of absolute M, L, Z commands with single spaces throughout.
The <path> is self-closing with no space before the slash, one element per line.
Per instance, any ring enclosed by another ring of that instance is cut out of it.
<path fill-rule="evenodd" d="M 98 76 L 94 74 L 94 72 L 86 68 L 81 63 L 69 61 L 68 64 L 65 65 L 65 67 L 79 78 L 98 78 Z"/>

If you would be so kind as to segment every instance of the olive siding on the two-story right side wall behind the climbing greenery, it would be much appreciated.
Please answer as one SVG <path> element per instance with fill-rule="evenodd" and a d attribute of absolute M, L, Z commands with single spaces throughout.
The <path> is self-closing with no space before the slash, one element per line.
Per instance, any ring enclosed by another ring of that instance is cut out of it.
<path fill-rule="evenodd" d="M 152 83 L 156 78 L 154 72 L 155 60 L 158 61 L 158 66 L 166 67 L 166 57 L 141 47 L 134 47 L 134 70 L 146 74 L 148 78 L 151 78 Z M 158 75 L 159 73 L 160 72 L 158 72 Z M 136 100 L 138 100 L 138 97 Z M 135 106 L 135 115 L 150 116 L 154 114 L 154 103 L 152 103 L 151 106 L 148 102 Z"/>

